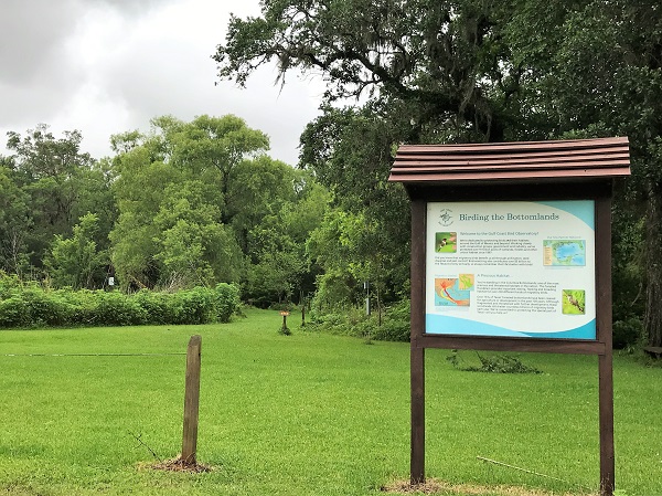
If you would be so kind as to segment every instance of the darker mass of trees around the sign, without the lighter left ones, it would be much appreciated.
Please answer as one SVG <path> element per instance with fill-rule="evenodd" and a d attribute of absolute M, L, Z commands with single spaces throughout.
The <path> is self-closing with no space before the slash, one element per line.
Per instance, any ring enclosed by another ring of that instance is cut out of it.
<path fill-rule="evenodd" d="M 320 232 L 325 298 L 345 297 L 357 273 L 383 294 L 406 291 L 408 211 L 386 183 L 394 146 L 628 136 L 633 177 L 613 215 L 615 320 L 626 341 L 643 321 L 648 342 L 662 345 L 658 1 L 264 2 L 261 15 L 231 20 L 215 60 L 220 77 L 241 85 L 273 62 L 282 77 L 299 70 L 328 82 L 300 161 L 335 193 Z M 362 104 L 342 106 L 353 97 Z"/>

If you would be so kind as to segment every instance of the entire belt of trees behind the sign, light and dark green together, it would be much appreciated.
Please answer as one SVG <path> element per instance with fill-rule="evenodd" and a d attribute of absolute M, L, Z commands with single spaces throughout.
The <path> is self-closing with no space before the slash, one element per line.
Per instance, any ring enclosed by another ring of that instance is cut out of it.
<path fill-rule="evenodd" d="M 284 76 L 323 74 L 299 168 L 235 116 L 156 117 L 149 134 L 113 136 L 100 160 L 78 131 L 10 133 L 0 270 L 73 289 L 236 283 L 260 306 L 310 299 L 327 323 L 369 296 L 378 321 L 409 292 L 408 201 L 387 182 L 399 144 L 627 135 L 616 341 L 661 346 L 661 46 L 652 1 L 264 2 L 260 17 L 232 19 L 214 59 L 239 84 L 271 60 Z"/>

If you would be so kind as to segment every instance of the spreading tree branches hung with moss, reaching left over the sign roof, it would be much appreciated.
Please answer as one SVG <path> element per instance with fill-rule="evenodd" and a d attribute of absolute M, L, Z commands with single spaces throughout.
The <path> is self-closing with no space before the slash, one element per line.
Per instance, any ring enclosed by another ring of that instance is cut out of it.
<path fill-rule="evenodd" d="M 509 6 L 481 1 L 264 2 L 261 17 L 231 19 L 214 60 L 220 77 L 239 85 L 275 60 L 282 82 L 295 67 L 321 73 L 328 101 L 367 94 L 406 103 L 409 143 L 429 126 L 499 141 L 515 124 L 492 101 L 494 87 L 506 95 L 516 87 L 501 64 L 498 22 L 506 15 Z"/>

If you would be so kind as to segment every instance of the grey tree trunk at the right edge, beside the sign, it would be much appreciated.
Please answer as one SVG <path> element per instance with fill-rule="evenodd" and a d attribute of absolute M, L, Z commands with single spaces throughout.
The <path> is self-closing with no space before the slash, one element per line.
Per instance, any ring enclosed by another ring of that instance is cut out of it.
<path fill-rule="evenodd" d="M 643 325 L 649 346 L 662 346 L 662 191 L 659 184 L 649 187 L 645 223 L 648 285 Z"/>

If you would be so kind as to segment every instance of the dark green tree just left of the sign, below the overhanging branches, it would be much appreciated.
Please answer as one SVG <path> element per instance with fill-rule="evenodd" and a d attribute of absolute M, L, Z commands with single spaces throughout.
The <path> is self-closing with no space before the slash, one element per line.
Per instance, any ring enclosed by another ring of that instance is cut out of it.
<path fill-rule="evenodd" d="M 409 276 L 409 254 L 403 250 L 409 243 L 409 203 L 399 184 L 387 182 L 393 144 L 409 129 L 408 123 L 402 124 L 387 118 L 378 105 L 324 107 L 323 115 L 301 135 L 301 165 L 334 192 L 333 207 L 342 210 L 345 219 L 355 219 L 350 223 L 353 228 L 344 226 L 351 232 L 346 238 L 352 240 L 352 260 L 344 268 L 332 264 L 334 287 L 345 281 L 352 287 L 341 293 L 353 294 L 357 285 L 370 281 L 377 308 L 384 297 L 401 297 Z M 313 258 L 323 260 L 320 255 L 318 250 Z"/>

